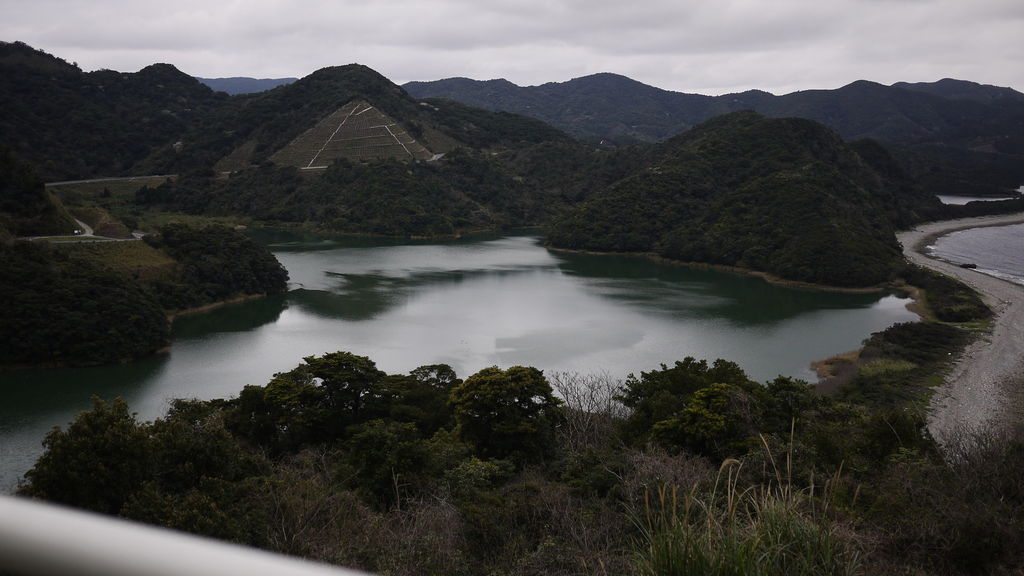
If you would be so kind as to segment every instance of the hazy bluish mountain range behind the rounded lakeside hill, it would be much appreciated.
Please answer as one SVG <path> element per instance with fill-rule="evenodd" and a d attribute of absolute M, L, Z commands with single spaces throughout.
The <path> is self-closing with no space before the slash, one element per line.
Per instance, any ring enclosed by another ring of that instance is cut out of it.
<path fill-rule="evenodd" d="M 859 81 L 781 96 L 759 90 L 706 96 L 598 74 L 529 87 L 457 78 L 411 82 L 406 89 L 526 114 L 584 139 L 624 142 L 663 140 L 714 116 L 754 110 L 815 120 L 847 140 L 879 139 L 937 194 L 997 195 L 1024 182 L 1024 94 L 972 82 Z"/>

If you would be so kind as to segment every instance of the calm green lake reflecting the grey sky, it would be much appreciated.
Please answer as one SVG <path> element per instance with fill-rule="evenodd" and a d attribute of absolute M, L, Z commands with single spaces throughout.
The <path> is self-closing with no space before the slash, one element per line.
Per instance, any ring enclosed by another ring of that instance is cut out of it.
<path fill-rule="evenodd" d="M 388 372 L 446 363 L 621 378 L 686 356 L 726 358 L 757 380 L 811 379 L 810 362 L 916 319 L 881 294 L 781 288 L 641 258 L 560 254 L 531 236 L 445 243 L 262 241 L 292 290 L 179 320 L 170 354 L 128 366 L 0 374 L 0 491 L 54 425 L 123 397 L 142 419 L 173 398 L 234 396 L 303 356 L 350 351 Z"/>

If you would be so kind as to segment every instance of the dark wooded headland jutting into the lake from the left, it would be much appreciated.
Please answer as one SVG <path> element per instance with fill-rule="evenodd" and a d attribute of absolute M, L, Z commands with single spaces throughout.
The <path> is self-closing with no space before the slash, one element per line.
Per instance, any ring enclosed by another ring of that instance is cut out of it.
<path fill-rule="evenodd" d="M 287 288 L 273 255 L 226 227 L 168 223 L 144 242 L 70 237 L 75 227 L 32 167 L 0 151 L 0 367 L 133 360 L 169 343 L 168 314 Z"/>

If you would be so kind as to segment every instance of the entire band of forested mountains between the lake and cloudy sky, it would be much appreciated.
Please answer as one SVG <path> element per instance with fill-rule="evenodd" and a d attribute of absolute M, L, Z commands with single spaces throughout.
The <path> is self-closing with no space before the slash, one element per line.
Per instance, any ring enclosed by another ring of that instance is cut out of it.
<path fill-rule="evenodd" d="M 845 286 L 893 272 L 894 229 L 952 213 L 936 194 L 1024 182 L 1024 98 L 967 82 L 703 96 L 601 74 L 412 95 L 430 85 L 348 65 L 231 96 L 168 64 L 85 73 L 0 43 L 0 147 L 47 180 L 179 175 L 138 190 L 129 217 L 428 237 L 544 225 L 561 247 Z M 612 138 L 653 143 L 595 146 Z M 23 234 L 13 204 L 0 228 Z"/>

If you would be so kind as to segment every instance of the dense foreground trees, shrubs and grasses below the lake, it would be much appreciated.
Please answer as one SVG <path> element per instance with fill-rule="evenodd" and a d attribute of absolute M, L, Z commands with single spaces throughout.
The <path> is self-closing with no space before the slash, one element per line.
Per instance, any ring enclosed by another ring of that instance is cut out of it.
<path fill-rule="evenodd" d="M 1021 439 L 947 465 L 924 427 L 968 337 L 896 325 L 835 397 L 725 360 L 463 379 L 337 352 L 153 422 L 96 400 L 19 492 L 381 574 L 1010 574 Z"/>

